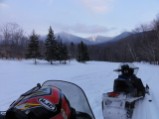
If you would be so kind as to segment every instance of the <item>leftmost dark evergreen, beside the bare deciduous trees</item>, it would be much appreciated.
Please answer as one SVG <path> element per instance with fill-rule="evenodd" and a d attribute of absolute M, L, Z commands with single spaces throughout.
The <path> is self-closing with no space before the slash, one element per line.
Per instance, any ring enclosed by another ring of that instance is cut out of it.
<path fill-rule="evenodd" d="M 30 41 L 28 44 L 28 50 L 26 57 L 27 58 L 34 58 L 35 64 L 37 63 L 36 59 L 40 56 L 39 52 L 39 38 L 38 35 L 35 34 L 33 31 L 32 35 L 30 36 Z"/>

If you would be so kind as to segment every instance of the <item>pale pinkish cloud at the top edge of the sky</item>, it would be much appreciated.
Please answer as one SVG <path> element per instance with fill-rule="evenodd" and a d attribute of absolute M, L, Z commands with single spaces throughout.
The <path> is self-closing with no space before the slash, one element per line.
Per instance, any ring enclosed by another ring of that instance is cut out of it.
<path fill-rule="evenodd" d="M 106 13 L 112 7 L 112 2 L 114 0 L 81 0 L 81 2 L 89 10 L 96 13 Z"/>

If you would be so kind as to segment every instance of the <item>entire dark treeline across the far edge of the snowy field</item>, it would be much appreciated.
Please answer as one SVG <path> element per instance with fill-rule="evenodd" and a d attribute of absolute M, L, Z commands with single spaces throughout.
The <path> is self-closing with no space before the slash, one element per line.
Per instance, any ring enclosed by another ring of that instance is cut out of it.
<path fill-rule="evenodd" d="M 0 27 L 0 58 L 3 59 L 45 59 L 66 63 L 70 59 L 79 62 L 88 60 L 113 62 L 150 62 L 159 64 L 159 18 L 141 25 L 124 39 L 99 45 L 64 44 L 55 37 L 49 27 L 46 38 L 41 39 L 35 31 L 26 36 L 16 23 Z"/>

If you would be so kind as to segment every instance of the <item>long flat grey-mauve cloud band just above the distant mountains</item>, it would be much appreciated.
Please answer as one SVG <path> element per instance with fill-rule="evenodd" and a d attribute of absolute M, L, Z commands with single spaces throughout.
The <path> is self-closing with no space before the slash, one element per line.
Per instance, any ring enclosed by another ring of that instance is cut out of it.
<path fill-rule="evenodd" d="M 74 33 L 82 33 L 82 34 L 99 34 L 99 33 L 106 33 L 109 31 L 114 30 L 114 28 L 108 29 L 105 26 L 99 25 L 84 25 L 84 24 L 75 24 L 75 25 L 56 25 L 56 28 L 60 31 L 67 31 L 67 32 L 74 32 Z"/>

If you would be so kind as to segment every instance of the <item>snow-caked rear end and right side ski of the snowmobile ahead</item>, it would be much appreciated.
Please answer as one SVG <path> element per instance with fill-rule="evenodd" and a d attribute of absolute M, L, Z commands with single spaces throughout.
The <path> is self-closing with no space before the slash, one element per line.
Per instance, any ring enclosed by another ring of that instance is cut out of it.
<path fill-rule="evenodd" d="M 137 107 L 136 102 L 143 99 L 152 101 L 148 85 L 145 87 L 145 96 L 133 97 L 124 92 L 104 93 L 102 97 L 103 117 L 104 119 L 131 119 L 133 110 Z"/>

